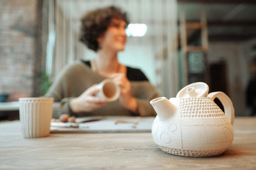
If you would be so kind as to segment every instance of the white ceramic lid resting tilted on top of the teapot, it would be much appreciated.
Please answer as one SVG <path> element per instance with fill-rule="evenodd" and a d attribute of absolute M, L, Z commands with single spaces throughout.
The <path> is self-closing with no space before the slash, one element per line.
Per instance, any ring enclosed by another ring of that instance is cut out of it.
<path fill-rule="evenodd" d="M 209 86 L 206 83 L 196 82 L 183 87 L 178 91 L 176 98 L 206 97 L 208 96 L 208 91 Z"/>

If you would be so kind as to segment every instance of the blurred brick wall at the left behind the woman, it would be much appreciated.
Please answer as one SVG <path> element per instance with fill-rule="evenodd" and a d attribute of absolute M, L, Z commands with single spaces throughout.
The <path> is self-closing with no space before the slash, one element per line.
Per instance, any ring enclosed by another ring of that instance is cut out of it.
<path fill-rule="evenodd" d="M 38 30 L 38 1 L 0 1 L 0 93 L 38 96 Z"/>

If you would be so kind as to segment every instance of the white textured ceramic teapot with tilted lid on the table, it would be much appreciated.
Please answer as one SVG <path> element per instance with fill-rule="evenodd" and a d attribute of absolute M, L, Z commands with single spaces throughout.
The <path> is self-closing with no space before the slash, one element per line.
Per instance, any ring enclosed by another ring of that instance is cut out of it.
<path fill-rule="evenodd" d="M 157 115 L 152 125 L 154 142 L 169 154 L 211 157 L 232 145 L 233 103 L 223 92 L 208 94 L 203 82 L 190 84 L 176 98 L 150 101 Z M 218 98 L 225 113 L 213 101 Z"/>

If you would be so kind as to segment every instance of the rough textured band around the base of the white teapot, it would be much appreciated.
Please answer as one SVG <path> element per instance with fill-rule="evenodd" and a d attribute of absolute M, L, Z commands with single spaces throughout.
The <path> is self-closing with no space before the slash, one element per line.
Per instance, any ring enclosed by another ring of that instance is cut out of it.
<path fill-rule="evenodd" d="M 169 147 L 162 147 L 159 145 L 159 148 L 169 154 L 175 154 L 178 156 L 184 157 L 213 157 L 225 152 L 226 149 L 214 149 L 214 150 L 186 150 L 186 149 L 174 149 Z"/>

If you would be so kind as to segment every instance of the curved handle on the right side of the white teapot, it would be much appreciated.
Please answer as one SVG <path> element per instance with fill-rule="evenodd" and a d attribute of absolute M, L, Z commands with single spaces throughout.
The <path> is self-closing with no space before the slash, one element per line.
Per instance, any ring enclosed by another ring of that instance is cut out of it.
<path fill-rule="evenodd" d="M 230 98 L 221 91 L 210 93 L 208 94 L 208 97 L 211 98 L 212 101 L 215 98 L 218 98 L 220 100 L 220 102 L 223 104 L 225 115 L 228 117 L 228 120 L 230 120 L 231 125 L 233 125 L 235 118 L 235 110 Z"/>

